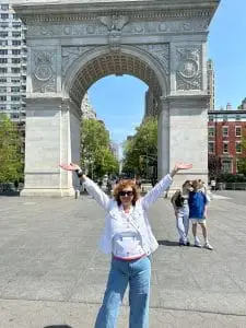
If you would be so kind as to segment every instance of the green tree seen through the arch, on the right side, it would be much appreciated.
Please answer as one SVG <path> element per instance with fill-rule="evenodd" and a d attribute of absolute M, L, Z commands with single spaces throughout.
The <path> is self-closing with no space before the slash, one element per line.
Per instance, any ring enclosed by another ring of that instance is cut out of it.
<path fill-rule="evenodd" d="M 157 167 L 157 119 L 148 118 L 136 130 L 125 144 L 122 171 L 150 177 L 150 167 Z"/>

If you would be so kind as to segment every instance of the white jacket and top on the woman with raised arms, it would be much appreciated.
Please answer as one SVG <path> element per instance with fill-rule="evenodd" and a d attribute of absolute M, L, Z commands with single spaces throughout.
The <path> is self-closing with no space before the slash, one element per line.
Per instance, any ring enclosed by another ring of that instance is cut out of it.
<path fill-rule="evenodd" d="M 105 254 L 117 254 L 116 256 L 120 254 L 121 256 L 119 257 L 132 256 L 134 253 L 140 254 L 142 249 L 143 254 L 147 255 L 153 253 L 159 244 L 152 233 L 147 211 L 172 183 L 173 179 L 167 174 L 154 188 L 136 202 L 136 206 L 131 208 L 130 214 L 127 215 L 122 212 L 121 207 L 118 207 L 117 201 L 110 199 L 93 180 L 86 177 L 84 187 L 107 212 L 104 233 L 101 238 L 102 251 Z M 133 246 L 136 247 L 134 250 Z"/>

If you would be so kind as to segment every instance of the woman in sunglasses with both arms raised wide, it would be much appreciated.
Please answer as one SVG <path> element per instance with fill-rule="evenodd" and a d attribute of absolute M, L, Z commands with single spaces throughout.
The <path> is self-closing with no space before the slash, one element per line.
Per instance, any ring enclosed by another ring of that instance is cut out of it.
<path fill-rule="evenodd" d="M 119 307 L 129 284 L 130 328 L 149 327 L 149 298 L 151 281 L 150 255 L 159 244 L 152 233 L 147 211 L 173 183 L 179 169 L 191 164 L 177 163 L 143 198 L 140 198 L 133 180 L 120 180 L 110 199 L 94 181 L 87 178 L 80 166 L 71 163 L 60 165 L 73 171 L 83 180 L 87 192 L 106 211 L 101 249 L 112 255 L 112 266 L 104 301 L 98 312 L 95 328 L 115 328 Z"/>

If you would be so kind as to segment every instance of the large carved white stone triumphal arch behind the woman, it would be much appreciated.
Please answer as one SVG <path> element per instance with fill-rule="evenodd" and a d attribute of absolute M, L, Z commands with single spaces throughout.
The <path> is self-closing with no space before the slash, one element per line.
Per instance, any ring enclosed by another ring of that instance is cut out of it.
<path fill-rule="evenodd" d="M 159 178 L 207 180 L 207 38 L 219 0 L 15 0 L 27 26 L 24 196 L 70 196 L 81 102 L 109 74 L 145 82 L 157 104 Z M 116 109 L 117 110 L 117 109 Z"/>

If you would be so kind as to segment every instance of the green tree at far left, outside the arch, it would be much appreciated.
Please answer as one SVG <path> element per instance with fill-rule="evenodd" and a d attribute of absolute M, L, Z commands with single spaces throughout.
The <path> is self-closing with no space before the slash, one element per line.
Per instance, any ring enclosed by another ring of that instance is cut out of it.
<path fill-rule="evenodd" d="M 22 140 L 17 126 L 5 115 L 0 115 L 0 183 L 23 178 Z"/>

